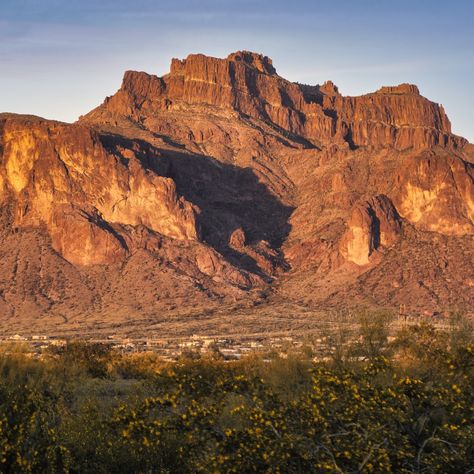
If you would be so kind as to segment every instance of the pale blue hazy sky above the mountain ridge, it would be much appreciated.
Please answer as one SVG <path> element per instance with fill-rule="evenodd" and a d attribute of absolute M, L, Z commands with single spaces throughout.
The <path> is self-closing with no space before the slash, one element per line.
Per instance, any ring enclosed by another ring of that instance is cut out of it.
<path fill-rule="evenodd" d="M 74 121 L 127 69 L 240 49 L 345 95 L 416 83 L 474 142 L 472 0 L 0 0 L 0 111 Z"/>

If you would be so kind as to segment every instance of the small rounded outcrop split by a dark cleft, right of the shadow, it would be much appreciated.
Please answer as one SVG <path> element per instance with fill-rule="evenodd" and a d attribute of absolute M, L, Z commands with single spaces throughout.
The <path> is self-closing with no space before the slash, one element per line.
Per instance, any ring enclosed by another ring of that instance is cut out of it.
<path fill-rule="evenodd" d="M 339 248 L 344 258 L 357 265 L 367 265 L 376 250 L 392 246 L 401 230 L 397 210 L 384 195 L 355 205 L 347 225 Z"/>

